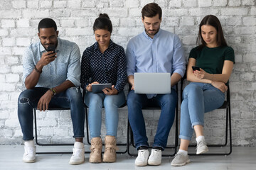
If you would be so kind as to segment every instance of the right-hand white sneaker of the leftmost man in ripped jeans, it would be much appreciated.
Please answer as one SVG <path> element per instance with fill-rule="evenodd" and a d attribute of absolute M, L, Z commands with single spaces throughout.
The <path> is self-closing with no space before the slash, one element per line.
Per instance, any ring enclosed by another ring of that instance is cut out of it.
<path fill-rule="evenodd" d="M 85 162 L 85 147 L 83 143 L 75 142 L 69 164 L 82 164 L 83 162 Z"/>

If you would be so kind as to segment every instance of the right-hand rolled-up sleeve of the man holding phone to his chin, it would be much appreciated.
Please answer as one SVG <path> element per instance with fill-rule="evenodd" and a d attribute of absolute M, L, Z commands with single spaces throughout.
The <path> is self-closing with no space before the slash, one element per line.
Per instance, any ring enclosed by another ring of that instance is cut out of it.
<path fill-rule="evenodd" d="M 75 86 L 80 86 L 81 75 L 80 50 L 78 45 L 73 45 L 70 53 L 70 63 L 68 64 L 67 80 L 71 81 Z"/>

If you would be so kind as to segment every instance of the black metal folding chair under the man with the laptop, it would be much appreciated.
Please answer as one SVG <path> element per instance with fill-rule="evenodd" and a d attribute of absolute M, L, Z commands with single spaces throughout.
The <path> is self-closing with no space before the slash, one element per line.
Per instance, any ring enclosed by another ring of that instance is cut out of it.
<path fill-rule="evenodd" d="M 129 86 L 129 89 L 131 89 L 131 86 Z M 176 85 L 176 90 L 178 93 L 178 85 Z M 160 107 L 151 107 L 151 106 L 146 106 L 145 108 L 142 108 L 142 110 L 161 110 Z M 175 113 L 175 139 L 174 139 L 174 146 L 167 146 L 166 149 L 174 149 L 173 154 L 162 154 L 162 157 L 174 157 L 174 155 L 177 152 L 177 147 L 178 147 L 178 102 L 176 106 L 176 113 Z M 132 156 L 132 157 L 137 157 L 138 154 L 132 154 L 130 152 L 130 145 L 132 143 L 132 147 L 136 148 L 134 144 L 134 137 L 133 137 L 133 132 L 132 128 L 129 125 L 129 120 L 128 120 L 128 125 L 127 125 L 127 153 Z M 149 147 L 152 148 L 152 147 Z"/>

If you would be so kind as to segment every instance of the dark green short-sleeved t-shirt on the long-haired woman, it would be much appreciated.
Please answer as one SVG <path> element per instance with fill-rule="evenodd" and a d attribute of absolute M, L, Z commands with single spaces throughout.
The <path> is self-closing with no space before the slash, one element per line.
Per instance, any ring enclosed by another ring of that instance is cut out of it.
<path fill-rule="evenodd" d="M 200 67 L 210 74 L 221 74 L 225 60 L 230 60 L 235 63 L 235 53 L 232 47 L 203 47 L 198 50 L 194 47 L 189 58 L 196 59 L 196 67 Z"/>

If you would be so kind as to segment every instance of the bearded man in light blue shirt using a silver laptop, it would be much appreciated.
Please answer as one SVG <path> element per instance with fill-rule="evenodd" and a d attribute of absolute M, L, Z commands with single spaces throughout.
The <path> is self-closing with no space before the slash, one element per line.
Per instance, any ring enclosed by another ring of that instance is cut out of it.
<path fill-rule="evenodd" d="M 178 100 L 175 85 L 185 73 L 185 58 L 181 40 L 174 33 L 160 28 L 161 19 L 159 5 L 146 4 L 142 8 L 142 22 L 145 30 L 129 40 L 127 45 L 127 76 L 129 84 L 132 86 L 127 96 L 127 106 L 129 123 L 138 150 L 138 157 L 135 160 L 137 166 L 161 164 L 161 151 L 166 147 L 169 131 L 174 123 Z M 171 94 L 135 94 L 134 72 L 171 73 Z M 150 157 L 142 115 L 142 108 L 149 105 L 161 107 Z"/>

